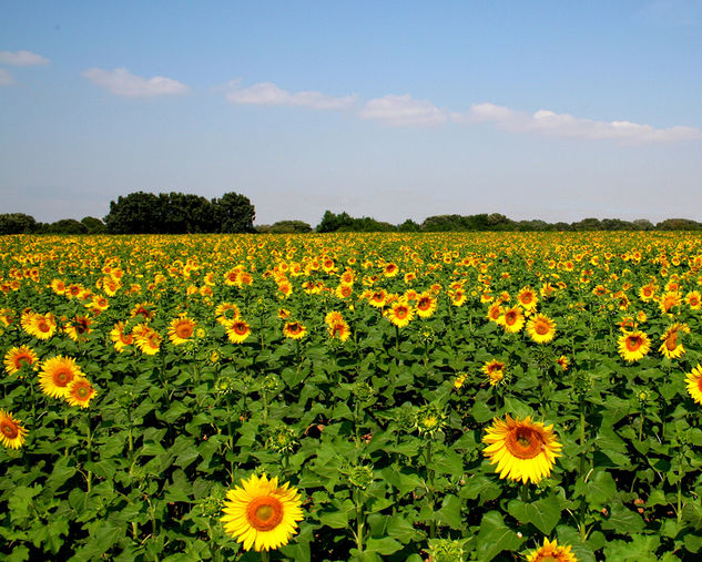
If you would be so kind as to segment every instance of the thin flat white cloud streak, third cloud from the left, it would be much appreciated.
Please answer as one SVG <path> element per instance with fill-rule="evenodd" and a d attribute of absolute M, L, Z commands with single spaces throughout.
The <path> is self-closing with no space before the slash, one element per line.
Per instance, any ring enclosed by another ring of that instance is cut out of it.
<path fill-rule="evenodd" d="M 238 105 L 292 105 L 313 110 L 344 110 L 356 102 L 355 95 L 335 98 L 321 92 L 305 91 L 291 93 L 272 82 L 260 82 L 248 88 L 240 88 L 238 81 L 228 84 L 226 99 Z"/>

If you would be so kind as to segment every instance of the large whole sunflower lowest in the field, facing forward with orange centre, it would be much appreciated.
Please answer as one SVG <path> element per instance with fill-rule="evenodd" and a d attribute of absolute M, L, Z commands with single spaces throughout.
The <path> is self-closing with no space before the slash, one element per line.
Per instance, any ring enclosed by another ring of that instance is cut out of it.
<path fill-rule="evenodd" d="M 278 486 L 277 477 L 268 480 L 266 474 L 253 474 L 226 492 L 220 521 L 236 542 L 244 543 L 244 550 L 267 551 L 284 546 L 297 532 L 301 505 L 299 493 L 288 482 Z"/>

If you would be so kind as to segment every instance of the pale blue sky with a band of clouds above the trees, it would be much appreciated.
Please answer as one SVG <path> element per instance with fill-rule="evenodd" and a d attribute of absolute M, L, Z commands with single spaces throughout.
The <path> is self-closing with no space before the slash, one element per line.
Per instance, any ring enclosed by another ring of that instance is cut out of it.
<path fill-rule="evenodd" d="M 0 0 L 0 213 L 702 221 L 702 2 Z"/>

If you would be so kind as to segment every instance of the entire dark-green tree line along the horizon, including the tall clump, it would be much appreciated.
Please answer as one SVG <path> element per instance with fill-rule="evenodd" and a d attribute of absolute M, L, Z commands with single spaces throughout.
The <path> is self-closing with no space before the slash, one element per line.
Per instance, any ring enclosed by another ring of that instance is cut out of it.
<path fill-rule="evenodd" d="M 63 218 L 40 223 L 23 213 L 0 214 L 0 234 L 195 234 L 195 233 L 334 233 L 334 232 L 587 232 L 587 231 L 702 231 L 702 223 L 689 218 L 668 218 L 657 224 L 639 218 L 583 218 L 573 223 L 512 221 L 500 213 L 476 215 L 434 215 L 417 223 L 401 224 L 353 217 L 326 211 L 313 228 L 304 221 L 278 221 L 254 226 L 255 208 L 248 197 L 225 193 L 207 200 L 184 193 L 135 192 L 110 202 L 103 218 L 87 216 L 81 221 Z"/>

